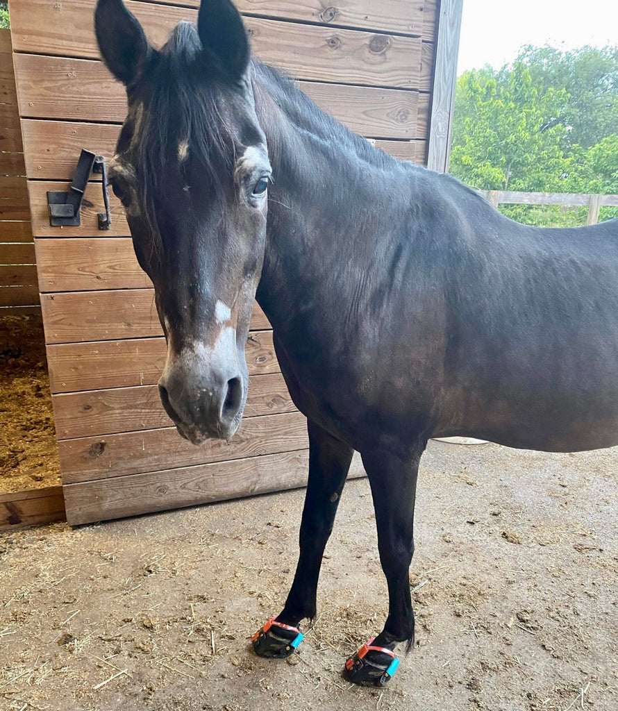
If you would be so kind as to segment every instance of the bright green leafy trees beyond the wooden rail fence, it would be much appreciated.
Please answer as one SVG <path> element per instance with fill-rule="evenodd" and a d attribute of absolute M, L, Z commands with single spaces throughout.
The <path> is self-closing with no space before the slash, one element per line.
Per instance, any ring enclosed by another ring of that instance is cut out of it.
<path fill-rule="evenodd" d="M 451 172 L 475 188 L 618 193 L 618 47 L 526 47 L 513 65 L 459 77 Z M 538 225 L 585 224 L 582 208 L 501 206 Z M 618 216 L 603 208 L 602 219 Z"/>

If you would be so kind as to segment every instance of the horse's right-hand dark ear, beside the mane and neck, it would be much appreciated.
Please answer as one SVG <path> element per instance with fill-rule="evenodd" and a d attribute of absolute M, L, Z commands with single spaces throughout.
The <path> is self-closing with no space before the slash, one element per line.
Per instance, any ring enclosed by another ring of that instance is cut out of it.
<path fill-rule="evenodd" d="M 203 48 L 233 80 L 245 74 L 251 48 L 240 13 L 230 0 L 202 0 L 198 33 Z"/>

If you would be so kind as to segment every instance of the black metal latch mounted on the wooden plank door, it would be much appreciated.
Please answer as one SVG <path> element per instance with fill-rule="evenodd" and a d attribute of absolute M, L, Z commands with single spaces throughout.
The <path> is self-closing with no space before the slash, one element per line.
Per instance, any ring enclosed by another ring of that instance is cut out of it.
<path fill-rule="evenodd" d="M 73 174 L 73 182 L 68 191 L 48 191 L 47 204 L 49 223 L 52 227 L 80 227 L 80 207 L 84 198 L 90 173 L 102 174 L 103 203 L 105 213 L 98 213 L 99 229 L 109 230 L 112 226 L 110 213 L 110 197 L 107 194 L 107 168 L 103 156 L 97 156 L 90 151 L 80 154 L 78 165 Z"/>

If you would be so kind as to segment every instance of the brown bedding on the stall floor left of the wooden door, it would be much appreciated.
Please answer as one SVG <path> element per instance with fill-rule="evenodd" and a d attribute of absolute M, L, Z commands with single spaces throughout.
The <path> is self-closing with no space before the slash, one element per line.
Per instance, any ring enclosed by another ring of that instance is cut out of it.
<path fill-rule="evenodd" d="M 41 316 L 0 318 L 0 494 L 60 484 Z"/>

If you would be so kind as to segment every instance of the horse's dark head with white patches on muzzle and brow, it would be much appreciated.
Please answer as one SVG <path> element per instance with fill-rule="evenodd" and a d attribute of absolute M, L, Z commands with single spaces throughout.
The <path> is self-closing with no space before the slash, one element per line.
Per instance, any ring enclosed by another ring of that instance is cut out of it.
<path fill-rule="evenodd" d="M 230 0 L 203 0 L 151 47 L 122 0 L 95 29 L 129 112 L 110 163 L 167 341 L 159 391 L 191 442 L 228 439 L 247 397 L 245 341 L 260 279 L 270 163 L 247 78 L 250 48 Z"/>

